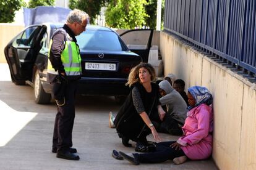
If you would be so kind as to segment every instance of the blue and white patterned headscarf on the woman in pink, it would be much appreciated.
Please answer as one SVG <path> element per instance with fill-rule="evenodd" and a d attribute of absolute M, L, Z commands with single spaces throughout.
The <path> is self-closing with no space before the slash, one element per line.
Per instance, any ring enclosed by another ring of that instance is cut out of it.
<path fill-rule="evenodd" d="M 192 87 L 189 87 L 187 91 L 189 91 L 189 93 L 195 99 L 195 105 L 193 107 L 189 106 L 188 107 L 189 110 L 191 110 L 194 107 L 197 107 L 202 103 L 206 103 L 207 105 L 211 105 L 211 103 L 213 103 L 213 97 L 210 94 L 210 91 L 208 91 L 206 87 L 192 86 Z"/>

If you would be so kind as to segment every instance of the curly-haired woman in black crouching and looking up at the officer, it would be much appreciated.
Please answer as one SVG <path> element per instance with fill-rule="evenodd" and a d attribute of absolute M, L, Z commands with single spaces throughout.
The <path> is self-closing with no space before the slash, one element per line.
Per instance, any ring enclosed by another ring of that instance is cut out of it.
<path fill-rule="evenodd" d="M 147 145 L 148 134 L 152 133 L 156 141 L 161 140 L 153 124 L 160 124 L 165 112 L 159 102 L 159 86 L 151 83 L 153 80 L 155 70 L 149 63 L 140 63 L 132 68 L 126 83 L 131 87 L 130 94 L 114 119 L 122 144 L 131 147 L 128 142 L 133 140 L 137 142 L 136 148 L 142 146 L 141 152 Z"/>

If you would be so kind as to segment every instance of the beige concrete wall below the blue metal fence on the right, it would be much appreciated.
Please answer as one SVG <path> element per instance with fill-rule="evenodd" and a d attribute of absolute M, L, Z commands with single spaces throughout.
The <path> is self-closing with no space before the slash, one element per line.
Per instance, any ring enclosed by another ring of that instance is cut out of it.
<path fill-rule="evenodd" d="M 256 169 L 256 84 L 160 33 L 164 75 L 184 79 L 213 94 L 213 159 L 220 169 Z"/>

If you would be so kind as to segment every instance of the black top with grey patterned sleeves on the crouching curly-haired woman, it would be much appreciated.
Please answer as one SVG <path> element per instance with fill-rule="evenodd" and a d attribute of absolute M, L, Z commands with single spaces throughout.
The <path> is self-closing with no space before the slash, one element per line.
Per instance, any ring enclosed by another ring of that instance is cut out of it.
<path fill-rule="evenodd" d="M 114 119 L 118 133 L 136 140 L 143 127 L 148 128 L 139 114 L 145 111 L 151 120 L 159 117 L 159 86 L 155 83 L 151 83 L 151 86 L 151 92 L 147 92 L 140 83 L 135 83 L 132 86 L 126 102 L 124 102 Z"/>

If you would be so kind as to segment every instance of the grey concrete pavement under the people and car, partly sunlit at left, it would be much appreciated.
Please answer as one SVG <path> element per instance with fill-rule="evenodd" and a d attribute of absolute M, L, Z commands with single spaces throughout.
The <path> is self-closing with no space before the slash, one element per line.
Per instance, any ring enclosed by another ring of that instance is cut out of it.
<path fill-rule="evenodd" d="M 56 106 L 37 105 L 32 87 L 13 84 L 7 65 L 0 64 L 0 169 L 217 169 L 211 159 L 139 166 L 114 160 L 113 149 L 134 152 L 134 147 L 123 147 L 116 130 L 108 127 L 108 112 L 116 113 L 119 107 L 113 97 L 78 96 L 73 142 L 80 161 L 56 158 L 51 153 Z M 177 139 L 160 135 L 163 140 Z"/>

